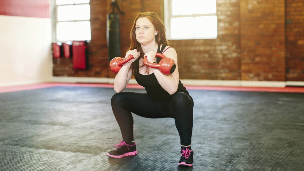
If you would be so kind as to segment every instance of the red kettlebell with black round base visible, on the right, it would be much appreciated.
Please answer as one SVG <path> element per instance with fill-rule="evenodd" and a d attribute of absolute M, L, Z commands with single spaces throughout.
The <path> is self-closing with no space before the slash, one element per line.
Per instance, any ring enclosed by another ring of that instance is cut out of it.
<path fill-rule="evenodd" d="M 150 68 L 158 68 L 164 75 L 170 75 L 175 71 L 176 65 L 173 59 L 167 58 L 164 54 L 156 53 L 156 57 L 162 58 L 159 64 L 148 62 L 147 56 L 143 58 L 143 63 Z"/>

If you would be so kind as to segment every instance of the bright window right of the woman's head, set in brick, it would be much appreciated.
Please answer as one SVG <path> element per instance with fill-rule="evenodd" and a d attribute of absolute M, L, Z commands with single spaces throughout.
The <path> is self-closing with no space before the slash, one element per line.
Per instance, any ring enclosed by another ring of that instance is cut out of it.
<path fill-rule="evenodd" d="M 164 0 L 168 39 L 216 39 L 216 0 Z"/>

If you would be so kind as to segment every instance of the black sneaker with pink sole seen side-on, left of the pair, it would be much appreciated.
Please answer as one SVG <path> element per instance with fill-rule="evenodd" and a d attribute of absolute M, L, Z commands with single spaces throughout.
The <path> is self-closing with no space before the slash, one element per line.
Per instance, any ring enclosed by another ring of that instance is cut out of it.
<path fill-rule="evenodd" d="M 136 145 L 135 142 L 133 142 L 133 145 L 127 144 L 125 141 L 121 140 L 119 141 L 119 144 L 114 145 L 114 147 L 118 146 L 116 149 L 109 151 L 107 153 L 107 156 L 113 157 L 113 158 L 122 158 L 129 155 L 136 155 Z"/>

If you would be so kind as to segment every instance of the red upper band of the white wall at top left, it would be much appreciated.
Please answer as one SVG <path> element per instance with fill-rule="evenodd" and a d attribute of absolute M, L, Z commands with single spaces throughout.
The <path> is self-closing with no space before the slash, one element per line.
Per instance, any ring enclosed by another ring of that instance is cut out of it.
<path fill-rule="evenodd" d="M 50 18 L 49 0 L 0 0 L 0 15 Z"/>

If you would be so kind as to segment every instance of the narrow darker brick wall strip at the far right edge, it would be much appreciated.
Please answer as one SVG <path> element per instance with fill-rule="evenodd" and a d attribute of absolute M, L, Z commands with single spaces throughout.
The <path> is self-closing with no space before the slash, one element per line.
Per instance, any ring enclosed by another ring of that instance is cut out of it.
<path fill-rule="evenodd" d="M 286 80 L 304 81 L 304 1 L 286 3 Z"/>

